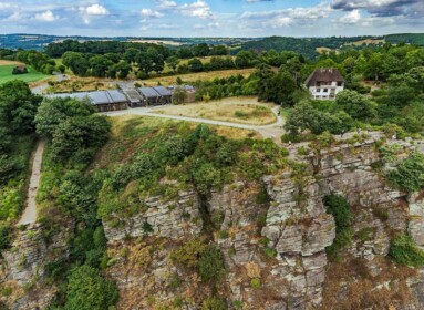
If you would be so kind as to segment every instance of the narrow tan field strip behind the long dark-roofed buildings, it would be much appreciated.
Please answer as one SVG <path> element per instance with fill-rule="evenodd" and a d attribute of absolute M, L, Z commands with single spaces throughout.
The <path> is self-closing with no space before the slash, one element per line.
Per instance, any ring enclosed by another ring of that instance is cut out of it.
<path fill-rule="evenodd" d="M 148 86 L 155 86 L 157 83 L 162 85 L 175 85 L 176 79 L 180 78 L 184 82 L 195 82 L 197 80 L 208 81 L 214 80 L 215 78 L 229 78 L 231 75 L 241 74 L 248 76 L 255 72 L 255 69 L 238 69 L 238 70 L 223 70 L 223 71 L 209 71 L 209 72 L 198 72 L 198 73 L 187 73 L 187 74 L 177 74 L 173 76 L 161 76 L 149 80 L 137 81 L 141 84 L 146 84 Z"/>

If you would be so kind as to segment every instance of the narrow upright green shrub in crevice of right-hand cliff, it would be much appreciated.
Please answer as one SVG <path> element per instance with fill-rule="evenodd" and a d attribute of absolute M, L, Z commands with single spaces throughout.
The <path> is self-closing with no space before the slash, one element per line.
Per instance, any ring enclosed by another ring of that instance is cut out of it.
<path fill-rule="evenodd" d="M 327 254 L 332 259 L 339 259 L 340 251 L 349 246 L 352 241 L 352 219 L 353 214 L 348 200 L 340 195 L 331 194 L 324 197 L 327 211 L 334 217 L 335 221 L 335 239 L 334 242 L 327 248 Z"/>

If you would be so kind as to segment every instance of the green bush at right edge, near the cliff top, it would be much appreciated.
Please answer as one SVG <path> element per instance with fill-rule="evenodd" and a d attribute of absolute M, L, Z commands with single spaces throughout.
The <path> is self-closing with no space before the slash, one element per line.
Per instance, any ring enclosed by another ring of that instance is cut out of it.
<path fill-rule="evenodd" d="M 387 178 L 403 190 L 410 193 L 421 190 L 424 187 L 424 155 L 412 154 L 395 170 L 390 172 Z"/>

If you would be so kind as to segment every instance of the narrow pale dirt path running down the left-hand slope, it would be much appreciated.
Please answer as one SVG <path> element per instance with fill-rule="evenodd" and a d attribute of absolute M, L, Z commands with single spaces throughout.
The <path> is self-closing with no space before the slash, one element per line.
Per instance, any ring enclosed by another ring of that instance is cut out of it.
<path fill-rule="evenodd" d="M 41 163 L 43 161 L 45 142 L 40 141 L 37 145 L 34 159 L 32 162 L 32 173 L 30 186 L 28 188 L 27 208 L 23 211 L 21 220 L 18 225 L 33 224 L 37 220 L 37 194 L 39 192 L 40 177 L 41 177 Z"/>

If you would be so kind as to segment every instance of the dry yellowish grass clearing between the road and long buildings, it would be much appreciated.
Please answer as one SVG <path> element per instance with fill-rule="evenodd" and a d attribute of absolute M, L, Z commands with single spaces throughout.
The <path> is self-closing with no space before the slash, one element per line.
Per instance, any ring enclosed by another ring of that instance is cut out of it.
<path fill-rule="evenodd" d="M 271 104 L 258 103 L 256 97 L 229 97 L 208 103 L 174 105 L 155 111 L 155 113 L 249 125 L 267 125 L 277 121 L 271 106 Z"/>

